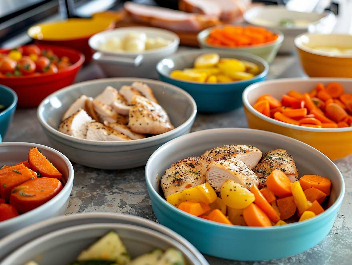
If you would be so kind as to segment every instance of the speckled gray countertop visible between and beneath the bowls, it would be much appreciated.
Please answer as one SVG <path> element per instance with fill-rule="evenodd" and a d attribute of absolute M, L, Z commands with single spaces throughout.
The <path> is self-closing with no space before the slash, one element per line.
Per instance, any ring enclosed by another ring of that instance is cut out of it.
<path fill-rule="evenodd" d="M 282 65 L 285 64 L 285 67 Z M 289 68 L 286 71 L 282 71 Z M 299 76 L 297 63 L 291 58 L 278 57 L 271 70 L 272 76 Z M 275 70 L 276 69 L 276 70 Z M 281 70 L 281 72 L 278 72 Z M 276 73 L 275 73 L 276 71 Z M 103 77 L 95 65 L 81 71 L 76 81 Z M 219 127 L 247 127 L 243 109 L 222 114 L 197 114 L 192 131 Z M 4 141 L 24 141 L 50 146 L 39 122 L 36 109 L 18 109 Z M 206 256 L 211 265 L 227 264 L 304 264 L 304 265 L 351 265 L 352 264 L 352 156 L 336 162 L 345 178 L 346 193 L 334 226 L 326 238 L 306 252 L 288 258 L 243 262 L 229 261 Z M 83 212 L 113 212 L 142 216 L 157 221 L 144 181 L 144 167 L 131 170 L 97 170 L 73 164 L 75 170 L 74 187 L 67 214 Z M 234 239 L 236 240 L 236 239 Z M 249 246 L 250 247 L 250 246 Z M 289 245 L 287 247 L 290 247 Z M 234 250 L 236 251 L 236 250 Z M 255 251 L 255 250 L 254 250 Z"/>

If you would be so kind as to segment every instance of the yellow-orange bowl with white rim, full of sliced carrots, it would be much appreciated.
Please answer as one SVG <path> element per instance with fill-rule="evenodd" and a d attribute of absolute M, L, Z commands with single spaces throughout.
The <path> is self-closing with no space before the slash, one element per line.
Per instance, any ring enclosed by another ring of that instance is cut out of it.
<path fill-rule="evenodd" d="M 242 95 L 250 128 L 287 135 L 336 160 L 352 153 L 352 80 L 289 78 L 260 82 Z"/>

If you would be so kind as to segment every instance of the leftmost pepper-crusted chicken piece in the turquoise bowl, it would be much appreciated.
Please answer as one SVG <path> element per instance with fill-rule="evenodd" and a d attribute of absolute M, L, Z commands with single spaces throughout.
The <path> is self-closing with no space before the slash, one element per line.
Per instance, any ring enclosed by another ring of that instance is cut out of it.
<path fill-rule="evenodd" d="M 206 163 L 200 157 L 188 157 L 172 164 L 161 177 L 165 198 L 178 191 L 205 183 Z"/>

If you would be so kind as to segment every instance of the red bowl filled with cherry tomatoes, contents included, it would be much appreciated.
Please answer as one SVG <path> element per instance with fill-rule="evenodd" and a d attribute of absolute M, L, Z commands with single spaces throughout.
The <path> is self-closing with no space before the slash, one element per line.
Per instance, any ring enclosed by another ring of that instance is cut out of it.
<path fill-rule="evenodd" d="M 46 96 L 74 82 L 84 59 L 81 52 L 59 46 L 0 49 L 0 84 L 17 93 L 18 107 L 37 107 Z"/>

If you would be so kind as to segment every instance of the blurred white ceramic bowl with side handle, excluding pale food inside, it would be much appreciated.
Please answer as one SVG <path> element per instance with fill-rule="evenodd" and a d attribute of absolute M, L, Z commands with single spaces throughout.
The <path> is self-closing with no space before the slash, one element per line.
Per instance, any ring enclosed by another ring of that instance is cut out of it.
<path fill-rule="evenodd" d="M 170 40 L 170 44 L 163 48 L 144 52 L 108 52 L 100 50 L 100 45 L 111 37 L 124 37 L 127 33 L 144 32 L 147 37 L 162 37 Z M 177 51 L 180 38 L 172 31 L 154 27 L 121 27 L 112 31 L 100 32 L 92 36 L 89 46 L 97 51 L 93 54 L 105 74 L 109 77 L 145 77 L 156 78 L 156 64 L 165 56 Z"/>

